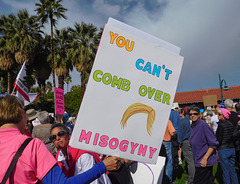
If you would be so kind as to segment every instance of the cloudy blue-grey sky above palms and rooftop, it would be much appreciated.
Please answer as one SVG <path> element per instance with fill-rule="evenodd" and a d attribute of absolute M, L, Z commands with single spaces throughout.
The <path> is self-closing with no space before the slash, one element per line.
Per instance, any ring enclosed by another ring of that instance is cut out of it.
<path fill-rule="evenodd" d="M 39 0 L 0 0 L 0 14 L 27 9 Z M 177 91 L 219 88 L 218 74 L 229 86 L 240 85 L 239 0 L 63 0 L 67 20 L 103 27 L 108 17 L 125 22 L 181 48 L 183 68 Z M 46 29 L 47 31 L 49 29 Z M 80 74 L 72 73 L 77 85 Z M 65 88 L 66 89 L 66 88 Z"/>

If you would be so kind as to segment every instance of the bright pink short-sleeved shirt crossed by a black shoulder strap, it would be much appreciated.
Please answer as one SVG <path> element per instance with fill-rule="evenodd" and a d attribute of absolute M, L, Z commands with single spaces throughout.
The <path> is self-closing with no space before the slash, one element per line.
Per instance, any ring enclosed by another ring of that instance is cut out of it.
<path fill-rule="evenodd" d="M 27 139 L 17 128 L 0 129 L 0 178 L 2 180 L 15 153 Z M 37 183 L 44 178 L 57 163 L 45 144 L 39 139 L 33 139 L 20 156 L 14 176 L 10 176 L 7 184 Z"/>

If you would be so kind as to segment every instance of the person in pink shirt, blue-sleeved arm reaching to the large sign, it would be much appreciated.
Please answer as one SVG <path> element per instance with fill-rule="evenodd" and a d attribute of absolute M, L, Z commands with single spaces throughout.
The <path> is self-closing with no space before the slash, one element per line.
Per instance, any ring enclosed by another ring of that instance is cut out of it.
<path fill-rule="evenodd" d="M 24 135 L 27 116 L 22 102 L 15 96 L 0 98 L 0 182 L 19 147 L 28 138 Z M 19 157 L 7 183 L 85 184 L 95 180 L 107 170 L 118 168 L 119 158 L 108 157 L 90 170 L 67 178 L 46 145 L 32 139 Z"/>

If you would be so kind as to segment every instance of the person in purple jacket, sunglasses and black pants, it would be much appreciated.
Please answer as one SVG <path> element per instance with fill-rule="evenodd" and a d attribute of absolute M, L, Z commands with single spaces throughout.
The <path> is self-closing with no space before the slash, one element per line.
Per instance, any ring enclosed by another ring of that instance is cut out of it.
<path fill-rule="evenodd" d="M 219 144 L 213 130 L 200 118 L 200 109 L 190 106 L 188 115 L 192 121 L 190 144 L 195 165 L 194 184 L 212 184 L 213 165 L 217 164 L 216 148 Z"/>

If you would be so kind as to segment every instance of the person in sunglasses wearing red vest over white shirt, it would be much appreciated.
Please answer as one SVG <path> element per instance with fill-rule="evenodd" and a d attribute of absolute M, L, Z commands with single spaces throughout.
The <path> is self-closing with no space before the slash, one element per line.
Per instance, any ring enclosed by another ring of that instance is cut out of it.
<path fill-rule="evenodd" d="M 81 174 L 92 168 L 95 163 L 101 161 L 97 153 L 69 146 L 70 130 L 65 124 L 53 124 L 50 134 L 51 136 L 49 139 L 58 149 L 56 155 L 58 165 L 62 168 L 67 177 Z M 111 181 L 104 173 L 101 177 L 91 182 L 91 184 L 111 184 Z"/>

